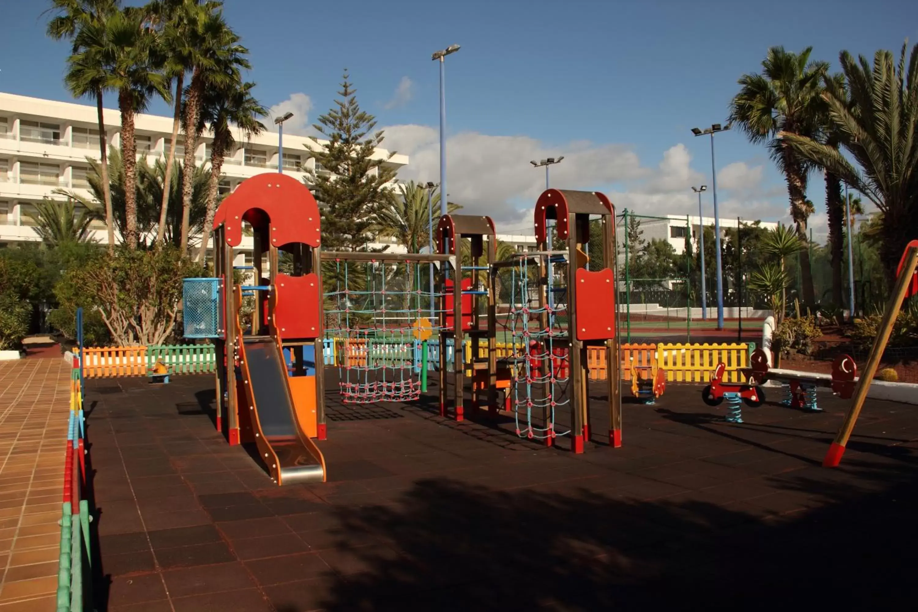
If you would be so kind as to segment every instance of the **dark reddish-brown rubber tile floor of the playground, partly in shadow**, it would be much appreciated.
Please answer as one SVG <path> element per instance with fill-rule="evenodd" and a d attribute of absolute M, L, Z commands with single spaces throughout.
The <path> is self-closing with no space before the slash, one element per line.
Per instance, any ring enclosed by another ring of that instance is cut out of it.
<path fill-rule="evenodd" d="M 913 598 L 913 406 L 871 401 L 827 470 L 844 400 L 821 393 L 822 413 L 769 402 L 734 425 L 699 391 L 673 384 L 654 406 L 626 395 L 621 449 L 596 435 L 574 455 L 520 440 L 509 418 L 440 417 L 435 382 L 418 401 L 372 406 L 344 406 L 334 389 L 328 482 L 277 487 L 215 429 L 212 375 L 90 380 L 99 609 Z M 597 431 L 606 401 L 591 398 Z"/>

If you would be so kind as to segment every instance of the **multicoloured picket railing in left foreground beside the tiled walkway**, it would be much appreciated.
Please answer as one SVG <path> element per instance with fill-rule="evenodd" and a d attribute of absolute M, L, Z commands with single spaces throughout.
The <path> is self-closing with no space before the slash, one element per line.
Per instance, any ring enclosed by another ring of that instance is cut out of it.
<path fill-rule="evenodd" d="M 61 556 L 58 565 L 58 612 L 92 609 L 92 554 L 89 502 L 84 499 L 86 463 L 83 388 L 79 364 L 73 364 L 70 382 L 70 423 L 64 455 Z M 75 508 L 75 511 L 74 511 Z"/>

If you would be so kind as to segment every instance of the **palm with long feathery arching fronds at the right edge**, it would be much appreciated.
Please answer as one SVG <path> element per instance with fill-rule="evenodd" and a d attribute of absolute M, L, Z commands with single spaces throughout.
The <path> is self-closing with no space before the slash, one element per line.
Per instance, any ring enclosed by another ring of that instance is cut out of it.
<path fill-rule="evenodd" d="M 873 65 L 842 51 L 839 61 L 848 84 L 847 95 L 831 81 L 824 100 L 838 132 L 840 150 L 806 135 L 782 132 L 787 146 L 808 161 L 837 174 L 868 198 L 882 213 L 880 260 L 888 284 L 895 282 L 902 250 L 918 227 L 918 45 L 905 59 L 903 44 L 898 66 L 892 52 L 878 50 Z"/>

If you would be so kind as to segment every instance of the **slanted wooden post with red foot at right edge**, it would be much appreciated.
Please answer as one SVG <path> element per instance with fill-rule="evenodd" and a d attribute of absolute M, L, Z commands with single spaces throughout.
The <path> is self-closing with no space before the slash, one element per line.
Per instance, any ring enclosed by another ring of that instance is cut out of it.
<path fill-rule="evenodd" d="M 883 351 L 886 349 L 886 343 L 890 339 L 892 327 L 896 323 L 896 317 L 899 316 L 902 300 L 905 299 L 909 286 L 912 284 L 912 274 L 915 272 L 916 264 L 918 264 L 918 245 L 912 246 L 910 244 L 904 265 L 902 265 L 899 271 L 899 278 L 896 279 L 895 288 L 892 290 L 892 297 L 886 304 L 883 319 L 879 324 L 879 335 L 874 339 L 873 346 L 870 348 L 867 366 L 864 368 L 864 372 L 861 373 L 860 378 L 857 379 L 857 386 L 855 388 L 855 395 L 852 399 L 851 407 L 845 415 L 845 422 L 842 424 L 842 428 L 839 429 L 838 435 L 835 436 L 835 440 L 829 447 L 829 451 L 825 453 L 823 467 L 836 467 L 839 462 L 842 461 L 842 455 L 845 454 L 845 445 L 851 437 L 851 431 L 855 428 L 855 423 L 857 417 L 860 415 L 861 408 L 864 407 L 864 400 L 867 399 L 870 383 L 873 382 L 873 376 L 877 373 L 879 360 L 883 356 Z"/>

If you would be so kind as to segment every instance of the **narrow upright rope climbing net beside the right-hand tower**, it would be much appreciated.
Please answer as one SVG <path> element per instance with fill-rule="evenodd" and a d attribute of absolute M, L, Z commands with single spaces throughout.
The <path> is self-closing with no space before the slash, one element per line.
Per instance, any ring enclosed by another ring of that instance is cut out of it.
<path fill-rule="evenodd" d="M 509 333 L 512 351 L 512 409 L 520 437 L 544 440 L 565 436 L 555 426 L 556 411 L 570 406 L 567 336 L 566 260 L 543 258 L 548 283 L 538 279 L 541 266 L 522 255 L 511 268 Z M 541 297 L 540 297 L 541 295 Z M 533 411 L 541 417 L 533 419 Z"/>

